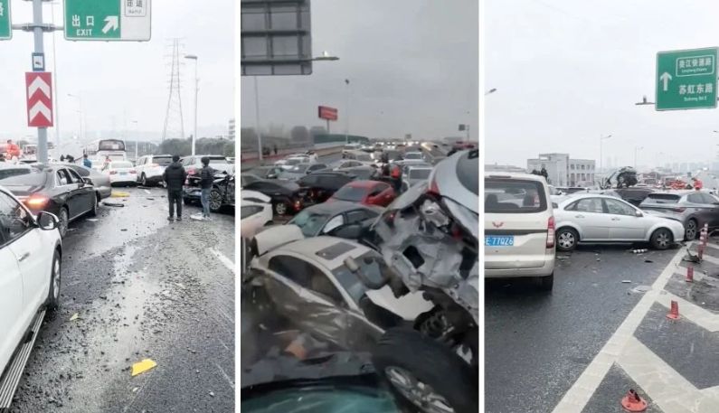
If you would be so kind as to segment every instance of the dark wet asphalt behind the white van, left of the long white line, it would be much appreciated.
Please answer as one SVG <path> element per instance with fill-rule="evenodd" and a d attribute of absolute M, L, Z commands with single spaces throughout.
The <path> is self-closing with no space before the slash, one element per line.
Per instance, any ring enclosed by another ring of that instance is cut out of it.
<path fill-rule="evenodd" d="M 632 289 L 650 286 L 677 252 L 628 249 L 558 254 L 551 295 L 531 280 L 487 280 L 487 413 L 551 412 L 639 302 Z"/>

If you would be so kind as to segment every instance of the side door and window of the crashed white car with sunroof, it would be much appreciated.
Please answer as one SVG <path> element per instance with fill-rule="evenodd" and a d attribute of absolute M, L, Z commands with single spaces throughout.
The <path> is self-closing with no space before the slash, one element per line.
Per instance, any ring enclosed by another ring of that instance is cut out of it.
<path fill-rule="evenodd" d="M 268 268 L 265 286 L 283 315 L 332 343 L 346 342 L 346 305 L 320 268 L 281 253 L 270 258 Z"/>

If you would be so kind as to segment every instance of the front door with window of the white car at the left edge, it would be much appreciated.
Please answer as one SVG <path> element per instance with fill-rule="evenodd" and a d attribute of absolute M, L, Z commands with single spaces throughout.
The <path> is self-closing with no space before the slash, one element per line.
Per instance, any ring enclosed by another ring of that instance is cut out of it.
<path fill-rule="evenodd" d="M 0 221 L 23 277 L 23 318 L 32 318 L 50 286 L 52 250 L 44 248 L 31 213 L 5 192 L 0 192 Z"/>

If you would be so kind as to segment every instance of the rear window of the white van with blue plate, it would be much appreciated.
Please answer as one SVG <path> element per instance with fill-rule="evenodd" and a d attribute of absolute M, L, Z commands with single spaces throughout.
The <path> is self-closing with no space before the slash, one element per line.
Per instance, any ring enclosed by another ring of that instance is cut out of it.
<path fill-rule="evenodd" d="M 546 211 L 544 186 L 524 179 L 485 179 L 485 212 L 534 213 Z"/>

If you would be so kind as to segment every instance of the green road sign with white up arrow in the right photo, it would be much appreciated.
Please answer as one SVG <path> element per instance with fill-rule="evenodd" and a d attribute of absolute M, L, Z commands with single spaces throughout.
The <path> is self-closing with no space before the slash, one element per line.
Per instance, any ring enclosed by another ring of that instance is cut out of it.
<path fill-rule="evenodd" d="M 716 108 L 715 47 L 657 53 L 657 110 Z"/>

